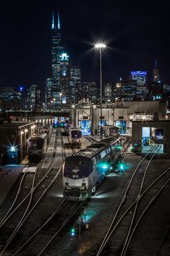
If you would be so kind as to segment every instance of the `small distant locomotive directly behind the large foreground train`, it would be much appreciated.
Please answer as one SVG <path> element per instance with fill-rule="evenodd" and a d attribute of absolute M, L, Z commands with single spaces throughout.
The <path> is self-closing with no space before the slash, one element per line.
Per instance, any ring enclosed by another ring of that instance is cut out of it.
<path fill-rule="evenodd" d="M 69 128 L 69 143 L 72 146 L 82 145 L 82 131 L 80 128 L 70 127 Z"/>

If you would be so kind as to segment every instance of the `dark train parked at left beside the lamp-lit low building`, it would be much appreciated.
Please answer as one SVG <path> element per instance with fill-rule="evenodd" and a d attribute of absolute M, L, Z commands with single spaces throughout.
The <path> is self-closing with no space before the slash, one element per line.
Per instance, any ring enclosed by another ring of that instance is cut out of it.
<path fill-rule="evenodd" d="M 37 133 L 27 139 L 28 159 L 33 162 L 40 161 L 46 152 L 48 136 L 46 133 Z"/>

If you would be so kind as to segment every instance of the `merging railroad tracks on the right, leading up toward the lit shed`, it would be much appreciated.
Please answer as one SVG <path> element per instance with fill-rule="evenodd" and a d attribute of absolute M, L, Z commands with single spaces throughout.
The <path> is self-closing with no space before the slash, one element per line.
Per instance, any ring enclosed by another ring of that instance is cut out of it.
<path fill-rule="evenodd" d="M 151 151 L 154 151 L 154 149 L 151 149 Z M 122 200 L 117 207 L 114 218 L 111 220 L 111 225 L 109 226 L 106 235 L 101 240 L 101 244 L 98 249 L 96 247 L 93 248 L 93 251 L 97 253 L 92 253 L 91 255 L 128 255 L 127 250 L 129 247 L 129 243 L 137 228 L 137 226 L 135 226 L 135 223 L 137 223 L 137 220 L 143 217 L 145 212 L 148 210 L 148 207 L 151 205 L 151 202 L 153 202 L 155 198 L 158 197 L 158 195 L 161 193 L 161 190 L 164 189 L 166 184 L 169 182 L 169 179 L 167 180 L 167 174 L 169 173 L 170 168 L 168 168 L 161 176 L 157 177 L 153 181 L 153 183 L 144 190 L 145 176 L 148 174 L 148 168 L 155 155 L 156 153 L 146 154 L 145 157 L 143 157 L 143 160 L 141 160 L 140 164 L 135 169 L 135 172 L 133 173 L 132 178 L 129 181 L 127 189 L 124 192 Z M 148 160 L 149 156 L 150 160 Z M 137 177 L 138 181 L 135 181 L 135 175 L 140 170 L 140 165 L 146 159 L 148 161 L 148 164 L 145 167 L 145 170 L 143 170 L 143 172 L 140 174 L 141 178 Z M 163 178 L 164 181 L 162 180 Z M 153 194 L 151 188 L 154 185 L 156 186 L 156 184 L 158 184 L 158 181 L 161 182 L 161 185 L 158 189 L 157 195 Z M 133 183 L 134 185 L 132 185 Z M 138 193 L 135 195 L 134 191 L 137 190 L 136 187 L 139 187 L 139 190 Z M 145 195 L 148 191 L 150 192 L 150 197 L 148 196 L 148 193 L 147 197 Z M 140 201 L 142 202 L 142 206 Z"/>

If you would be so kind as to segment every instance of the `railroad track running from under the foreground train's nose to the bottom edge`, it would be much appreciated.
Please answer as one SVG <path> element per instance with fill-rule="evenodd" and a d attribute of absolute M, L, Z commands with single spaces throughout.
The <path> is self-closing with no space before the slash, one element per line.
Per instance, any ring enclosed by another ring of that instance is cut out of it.
<path fill-rule="evenodd" d="M 42 255 L 48 247 L 49 250 L 56 252 L 56 240 L 60 240 L 61 236 L 64 235 L 65 226 L 67 226 L 72 219 L 74 222 L 74 219 L 77 218 L 76 216 L 81 211 L 80 207 L 82 207 L 83 203 L 84 202 L 68 202 L 64 199 L 50 217 L 42 223 L 31 236 L 25 239 L 23 244 L 17 242 L 17 251 L 15 251 L 12 256 L 22 255 L 22 252 L 25 250 L 29 252 L 27 255 L 39 256 Z M 53 244 L 54 239 L 55 244 Z"/>

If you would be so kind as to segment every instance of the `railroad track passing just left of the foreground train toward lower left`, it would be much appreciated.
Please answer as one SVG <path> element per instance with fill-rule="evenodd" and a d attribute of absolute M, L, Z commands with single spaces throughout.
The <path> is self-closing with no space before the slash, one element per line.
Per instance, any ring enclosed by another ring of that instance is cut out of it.
<path fill-rule="evenodd" d="M 58 133 L 59 133 L 59 131 L 58 131 Z M 59 134 L 57 134 L 57 135 L 59 136 Z M 59 145 L 61 145 L 60 142 L 59 142 Z M 59 146 L 59 145 L 57 145 L 57 142 L 55 142 L 54 149 L 56 149 L 57 146 Z M 61 151 L 61 155 L 62 154 L 64 154 L 63 151 Z M 59 152 L 57 154 L 57 157 L 59 157 Z M 1 234 L 3 234 L 3 237 L 6 239 L 6 242 L 4 242 L 3 239 L 2 239 L 3 241 L 1 242 L 1 244 L 5 244 L 4 248 L 1 250 L 1 255 L 3 255 L 4 252 L 7 250 L 7 247 L 9 247 L 9 245 L 12 244 L 12 240 L 19 233 L 19 230 L 20 230 L 20 228 L 22 228 L 22 225 L 23 225 L 23 223 L 25 223 L 25 220 L 27 220 L 27 218 L 30 217 L 30 215 L 32 214 L 35 207 L 37 207 L 37 205 L 41 201 L 42 197 L 44 197 L 46 192 L 50 189 L 50 187 L 53 185 L 54 181 L 56 181 L 56 178 L 59 176 L 59 173 L 61 171 L 61 168 L 60 168 L 61 164 L 58 160 L 57 160 L 57 165 L 59 165 L 59 170 L 57 172 L 55 171 L 55 173 L 53 173 L 53 175 L 49 176 L 49 173 L 51 172 L 54 165 L 56 165 L 55 150 L 54 150 L 54 160 L 53 160 L 53 162 L 51 162 L 50 168 L 47 170 L 47 172 L 43 175 L 41 180 L 38 181 L 38 183 L 36 185 L 35 185 L 35 178 L 33 178 L 33 185 L 30 189 L 30 192 L 27 194 L 27 196 L 24 199 L 22 199 L 20 204 L 17 205 L 17 207 L 14 208 L 14 210 L 9 215 L 7 215 L 7 218 L 4 218 L 3 221 L 1 222 L 1 226 L 3 226 L 3 232 L 1 232 Z M 58 168 L 56 168 L 56 166 L 55 166 L 55 169 L 58 169 Z M 43 186 L 40 186 L 40 185 L 42 185 L 42 183 L 43 183 Z M 35 191 L 36 191 L 36 193 L 35 193 Z M 35 194 L 34 198 L 33 198 L 33 194 Z M 28 203 L 27 203 L 27 201 L 28 201 Z M 27 206 L 26 206 L 26 210 L 23 212 L 24 205 L 27 205 Z M 20 208 L 20 215 L 22 215 L 21 218 L 18 218 L 19 208 Z M 10 221 L 11 225 L 9 225 L 9 223 L 8 223 L 8 226 L 5 227 L 5 224 L 7 224 L 7 220 L 9 221 L 9 219 L 11 219 L 11 218 L 12 218 L 12 220 Z"/>

